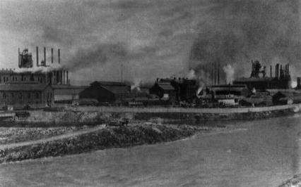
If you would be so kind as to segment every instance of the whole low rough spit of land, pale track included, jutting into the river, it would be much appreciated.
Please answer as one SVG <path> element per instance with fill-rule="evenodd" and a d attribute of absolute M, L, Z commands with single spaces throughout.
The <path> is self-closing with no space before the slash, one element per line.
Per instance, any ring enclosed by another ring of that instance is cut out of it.
<path fill-rule="evenodd" d="M 0 163 L 77 154 L 105 148 L 126 148 L 129 146 L 175 141 L 197 133 L 227 129 L 227 127 L 153 124 L 149 122 L 135 123 L 129 126 L 105 127 L 102 125 L 101 129 L 97 129 L 97 127 L 83 128 L 86 129 L 77 129 L 76 127 L 0 129 L 0 132 L 2 132 L 0 137 L 9 139 L 6 143 L 19 142 L 0 146 Z M 95 130 L 91 130 L 93 128 Z M 66 132 L 69 132 L 69 136 L 62 135 Z M 53 138 L 47 138 L 49 136 Z M 37 141 L 38 138 L 42 138 L 42 141 Z M 23 140 L 30 141 L 22 142 Z"/>

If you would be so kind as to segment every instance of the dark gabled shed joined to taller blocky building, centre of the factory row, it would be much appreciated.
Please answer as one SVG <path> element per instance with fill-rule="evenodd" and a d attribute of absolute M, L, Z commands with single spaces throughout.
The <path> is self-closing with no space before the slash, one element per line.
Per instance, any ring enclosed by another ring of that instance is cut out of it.
<path fill-rule="evenodd" d="M 170 87 L 171 86 L 171 87 Z M 173 88 L 173 89 L 171 89 Z M 196 98 L 196 80 L 185 78 L 157 79 L 150 89 L 151 94 L 162 98 L 168 94 L 172 101 L 193 101 Z"/>

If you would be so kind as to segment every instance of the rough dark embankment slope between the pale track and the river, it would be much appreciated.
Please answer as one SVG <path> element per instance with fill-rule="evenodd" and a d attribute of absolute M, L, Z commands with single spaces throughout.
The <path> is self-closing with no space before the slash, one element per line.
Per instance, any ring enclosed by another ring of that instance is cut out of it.
<path fill-rule="evenodd" d="M 225 127 L 215 128 L 224 129 Z M 190 125 L 143 124 L 129 127 L 106 127 L 96 131 L 77 134 L 54 141 L 42 141 L 25 146 L 2 146 L 0 163 L 14 162 L 40 157 L 85 153 L 106 148 L 127 148 L 144 144 L 176 141 L 208 132 L 213 128 Z M 22 144 L 20 144 L 22 145 Z"/>

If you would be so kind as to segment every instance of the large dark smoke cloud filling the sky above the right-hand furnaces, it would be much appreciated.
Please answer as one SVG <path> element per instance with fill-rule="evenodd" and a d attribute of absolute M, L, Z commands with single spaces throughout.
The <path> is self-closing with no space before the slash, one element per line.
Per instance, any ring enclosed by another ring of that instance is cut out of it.
<path fill-rule="evenodd" d="M 250 61 L 300 68 L 299 1 L 214 1 L 199 23 L 189 67 L 196 71 L 231 64 L 235 77 L 249 76 Z M 224 76 L 224 75 L 223 75 Z"/>

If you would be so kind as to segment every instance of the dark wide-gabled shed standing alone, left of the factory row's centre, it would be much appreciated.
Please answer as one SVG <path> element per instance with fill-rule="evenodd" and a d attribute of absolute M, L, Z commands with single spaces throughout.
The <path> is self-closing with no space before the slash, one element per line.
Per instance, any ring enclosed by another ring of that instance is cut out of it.
<path fill-rule="evenodd" d="M 121 82 L 93 82 L 79 93 L 80 99 L 97 99 L 98 102 L 114 103 L 131 97 L 131 86 Z"/>

